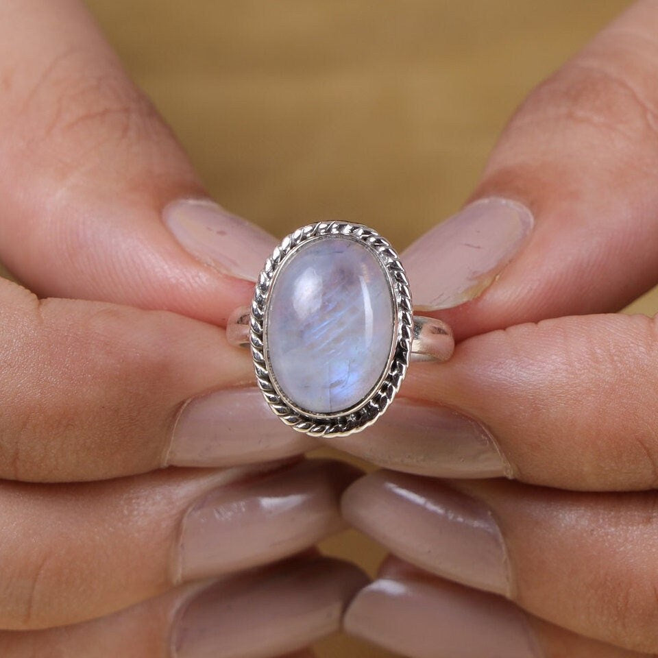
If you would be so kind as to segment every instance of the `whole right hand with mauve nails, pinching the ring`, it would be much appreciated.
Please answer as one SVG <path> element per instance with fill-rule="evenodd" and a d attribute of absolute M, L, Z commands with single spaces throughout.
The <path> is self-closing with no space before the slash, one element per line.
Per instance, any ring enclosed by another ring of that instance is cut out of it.
<path fill-rule="evenodd" d="M 539 86 L 482 200 L 403 258 L 463 342 L 340 439 L 398 471 L 343 509 L 404 560 L 348 609 L 352 633 L 415 658 L 658 653 L 657 324 L 592 315 L 658 281 L 657 34 L 641 1 Z"/>

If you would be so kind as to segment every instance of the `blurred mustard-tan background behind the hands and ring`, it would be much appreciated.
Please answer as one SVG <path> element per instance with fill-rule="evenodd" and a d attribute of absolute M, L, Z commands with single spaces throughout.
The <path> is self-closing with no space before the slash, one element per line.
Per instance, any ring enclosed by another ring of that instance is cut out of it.
<path fill-rule="evenodd" d="M 463 202 L 528 90 L 628 3 L 88 4 L 221 204 L 280 236 L 350 219 L 402 248 Z M 381 557 L 356 533 L 324 548 L 371 572 Z M 345 637 L 318 654 L 389 655 Z"/>

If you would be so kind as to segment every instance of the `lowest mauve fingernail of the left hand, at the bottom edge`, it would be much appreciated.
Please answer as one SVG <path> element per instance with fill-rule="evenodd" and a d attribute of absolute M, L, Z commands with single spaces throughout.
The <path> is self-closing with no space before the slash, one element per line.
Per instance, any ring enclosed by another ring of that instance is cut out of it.
<path fill-rule="evenodd" d="M 269 658 L 339 630 L 367 578 L 354 565 L 314 557 L 223 578 L 175 623 L 173 658 Z M 305 655 L 305 654 L 301 654 Z"/>

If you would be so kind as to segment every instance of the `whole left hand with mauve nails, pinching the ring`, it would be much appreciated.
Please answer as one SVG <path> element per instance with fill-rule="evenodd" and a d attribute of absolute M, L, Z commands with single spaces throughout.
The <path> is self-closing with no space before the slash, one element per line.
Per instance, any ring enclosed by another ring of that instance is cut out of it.
<path fill-rule="evenodd" d="M 365 579 L 287 558 L 356 473 L 297 461 L 213 326 L 273 239 L 203 200 L 77 1 L 0 3 L 0 88 L 0 258 L 39 295 L 0 281 L 0 655 L 304 648 Z"/>

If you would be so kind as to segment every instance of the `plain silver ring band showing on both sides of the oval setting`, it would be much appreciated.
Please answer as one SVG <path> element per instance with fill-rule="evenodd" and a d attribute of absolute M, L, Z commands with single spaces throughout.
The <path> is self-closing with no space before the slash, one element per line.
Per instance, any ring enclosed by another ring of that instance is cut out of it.
<path fill-rule="evenodd" d="M 249 306 L 236 308 L 226 325 L 226 338 L 230 345 L 248 348 L 250 345 Z M 448 361 L 454 352 L 454 337 L 448 324 L 433 317 L 413 316 L 412 361 Z"/>

